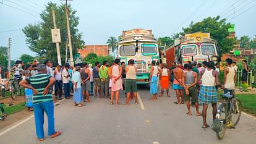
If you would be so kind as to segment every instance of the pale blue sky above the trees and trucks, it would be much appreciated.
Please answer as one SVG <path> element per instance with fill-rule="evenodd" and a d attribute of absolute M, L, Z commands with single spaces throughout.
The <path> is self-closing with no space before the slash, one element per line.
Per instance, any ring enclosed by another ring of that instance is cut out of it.
<path fill-rule="evenodd" d="M 0 0 L 0 46 L 12 38 L 11 59 L 22 54 L 36 56 L 28 49 L 22 28 L 40 21 L 47 0 Z M 54 3 L 64 1 L 52 0 Z M 226 18 L 234 23 L 236 36 L 256 35 L 256 0 L 73 0 L 79 30 L 85 44 L 106 44 L 109 36 L 119 36 L 122 30 L 144 28 L 153 30 L 156 38 L 171 36 L 188 27 L 191 21 L 206 17 Z M 8 6 L 7 6 L 8 5 Z M 14 8 L 15 7 L 15 8 Z M 19 9 L 19 10 L 18 10 Z M 6 32 L 14 30 L 11 32 Z"/>

